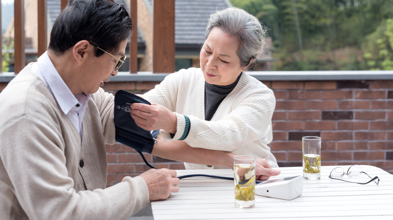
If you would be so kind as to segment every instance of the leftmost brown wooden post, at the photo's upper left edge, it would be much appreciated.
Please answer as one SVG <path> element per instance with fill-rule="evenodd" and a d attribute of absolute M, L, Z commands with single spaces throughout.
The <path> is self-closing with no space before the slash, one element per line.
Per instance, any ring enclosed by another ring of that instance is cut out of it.
<path fill-rule="evenodd" d="M 24 0 L 14 2 L 15 54 L 14 72 L 19 73 L 26 65 L 25 56 L 25 4 Z"/>

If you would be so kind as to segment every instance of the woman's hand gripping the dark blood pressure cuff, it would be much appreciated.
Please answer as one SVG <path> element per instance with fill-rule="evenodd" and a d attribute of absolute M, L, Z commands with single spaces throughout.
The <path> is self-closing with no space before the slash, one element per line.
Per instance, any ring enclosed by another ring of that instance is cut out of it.
<path fill-rule="evenodd" d="M 132 103 L 130 107 L 129 114 L 139 127 L 148 131 L 163 129 L 171 134 L 176 133 L 176 114 L 168 108 L 156 103 Z"/>

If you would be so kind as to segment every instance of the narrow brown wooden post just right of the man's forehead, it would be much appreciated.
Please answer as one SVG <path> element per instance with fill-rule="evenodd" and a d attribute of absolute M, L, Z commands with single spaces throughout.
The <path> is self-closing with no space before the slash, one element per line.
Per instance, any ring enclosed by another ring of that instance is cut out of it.
<path fill-rule="evenodd" d="M 138 72 L 138 0 L 130 0 L 130 17 L 133 21 L 134 33 L 129 42 L 129 72 Z"/>

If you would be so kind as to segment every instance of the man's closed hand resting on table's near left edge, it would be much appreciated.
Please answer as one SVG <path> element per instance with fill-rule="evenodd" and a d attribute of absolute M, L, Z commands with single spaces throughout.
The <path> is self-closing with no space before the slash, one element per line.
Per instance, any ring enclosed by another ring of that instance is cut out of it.
<path fill-rule="evenodd" d="M 155 201 L 168 198 L 172 192 L 179 191 L 179 178 L 176 171 L 169 169 L 150 169 L 140 176 L 145 179 L 149 189 L 149 200 Z"/>

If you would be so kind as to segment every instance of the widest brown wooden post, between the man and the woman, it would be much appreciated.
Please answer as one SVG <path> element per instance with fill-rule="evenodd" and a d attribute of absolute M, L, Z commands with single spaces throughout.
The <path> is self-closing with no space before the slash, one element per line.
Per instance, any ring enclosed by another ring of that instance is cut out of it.
<path fill-rule="evenodd" d="M 153 3 L 153 73 L 172 73 L 175 71 L 175 0 Z"/>

